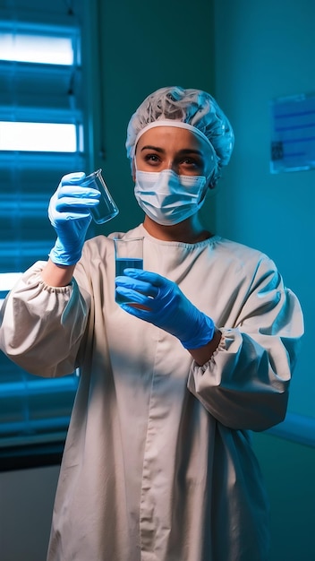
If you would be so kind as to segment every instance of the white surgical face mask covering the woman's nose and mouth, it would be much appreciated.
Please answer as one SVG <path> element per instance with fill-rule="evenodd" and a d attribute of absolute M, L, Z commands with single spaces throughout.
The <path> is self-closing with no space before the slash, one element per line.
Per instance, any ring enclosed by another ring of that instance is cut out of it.
<path fill-rule="evenodd" d="M 136 170 L 135 197 L 145 213 L 163 226 L 189 218 L 204 203 L 204 176 L 178 176 L 172 169 L 160 172 Z"/>

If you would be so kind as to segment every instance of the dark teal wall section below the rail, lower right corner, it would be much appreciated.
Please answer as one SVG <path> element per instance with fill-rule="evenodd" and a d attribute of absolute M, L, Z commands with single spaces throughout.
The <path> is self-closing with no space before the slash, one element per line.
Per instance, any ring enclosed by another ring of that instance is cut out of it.
<path fill-rule="evenodd" d="M 268 561 L 315 559 L 315 449 L 266 434 L 253 447 L 270 505 Z"/>

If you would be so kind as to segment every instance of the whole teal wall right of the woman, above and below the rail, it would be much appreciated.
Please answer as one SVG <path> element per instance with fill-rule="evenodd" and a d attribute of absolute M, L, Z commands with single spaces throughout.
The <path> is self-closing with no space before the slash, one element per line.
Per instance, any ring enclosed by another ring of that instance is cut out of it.
<path fill-rule="evenodd" d="M 269 102 L 315 92 L 312 0 L 216 0 L 216 95 L 235 148 L 216 201 L 217 231 L 270 255 L 302 302 L 306 334 L 289 410 L 315 417 L 315 170 L 269 173 Z M 315 448 L 253 436 L 271 507 L 270 561 L 315 558 Z"/>

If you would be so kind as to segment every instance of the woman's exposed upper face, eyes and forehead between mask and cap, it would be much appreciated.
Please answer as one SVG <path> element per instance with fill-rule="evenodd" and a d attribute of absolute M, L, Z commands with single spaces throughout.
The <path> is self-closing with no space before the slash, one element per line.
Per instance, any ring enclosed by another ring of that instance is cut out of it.
<path fill-rule="evenodd" d="M 140 171 L 172 169 L 178 175 L 209 176 L 213 168 L 207 142 L 176 126 L 157 126 L 140 136 L 136 166 Z M 133 179 L 135 168 L 133 166 Z"/>

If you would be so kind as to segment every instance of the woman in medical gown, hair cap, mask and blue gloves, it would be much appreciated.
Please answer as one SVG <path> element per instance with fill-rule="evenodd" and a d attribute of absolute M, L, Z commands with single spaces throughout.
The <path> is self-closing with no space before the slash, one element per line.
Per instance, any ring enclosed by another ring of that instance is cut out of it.
<path fill-rule="evenodd" d="M 81 369 L 49 561 L 268 558 L 248 431 L 285 418 L 302 313 L 266 255 L 200 223 L 233 142 L 208 93 L 154 92 L 126 142 L 143 224 L 84 243 L 98 195 L 65 176 L 50 259 L 6 300 L 10 358 L 44 376 Z M 138 236 L 145 271 L 115 279 L 113 237 Z"/>

